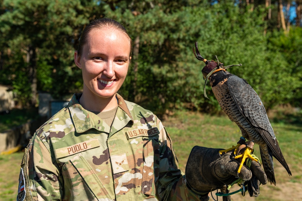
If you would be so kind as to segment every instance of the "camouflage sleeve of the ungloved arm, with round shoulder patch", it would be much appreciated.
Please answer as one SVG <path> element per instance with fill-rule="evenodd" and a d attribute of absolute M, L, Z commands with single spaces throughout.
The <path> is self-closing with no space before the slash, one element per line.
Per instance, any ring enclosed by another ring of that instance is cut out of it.
<path fill-rule="evenodd" d="M 20 188 L 22 181 L 24 188 Z M 61 195 L 62 186 L 57 164 L 45 144 L 35 134 L 22 159 L 17 200 L 62 200 Z"/>

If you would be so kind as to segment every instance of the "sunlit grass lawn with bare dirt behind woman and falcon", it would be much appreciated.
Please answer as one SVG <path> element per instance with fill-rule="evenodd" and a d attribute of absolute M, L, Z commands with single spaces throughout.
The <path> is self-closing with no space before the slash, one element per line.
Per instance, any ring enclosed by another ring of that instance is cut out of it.
<path fill-rule="evenodd" d="M 279 141 L 282 153 L 293 175 L 288 176 L 281 164 L 274 160 L 276 186 L 261 186 L 261 195 L 257 198 L 239 193 L 232 195 L 232 200 L 302 200 L 302 115 L 281 115 L 272 118 L 272 126 Z M 211 116 L 196 112 L 176 112 L 164 126 L 170 133 L 174 151 L 184 172 L 187 158 L 193 146 L 211 148 L 229 148 L 239 140 L 241 133 L 234 122 L 226 115 Z M 254 154 L 260 156 L 258 145 Z M 3 201 L 15 200 L 18 189 L 18 176 L 23 153 L 0 156 L 0 197 Z M 233 187 L 232 187 L 233 188 Z M 231 188 L 231 190 L 232 190 Z M 236 188 L 236 187 L 234 187 Z M 237 190 L 234 189 L 234 191 Z M 213 200 L 210 198 L 210 200 Z M 219 200 L 222 200 L 219 198 Z"/>

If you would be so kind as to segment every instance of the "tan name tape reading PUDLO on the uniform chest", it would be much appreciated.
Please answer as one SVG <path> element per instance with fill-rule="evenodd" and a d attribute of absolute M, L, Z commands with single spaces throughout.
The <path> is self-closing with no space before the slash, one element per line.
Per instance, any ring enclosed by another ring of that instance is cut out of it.
<path fill-rule="evenodd" d="M 94 138 L 84 142 L 80 142 L 78 144 L 69 147 L 55 149 L 54 154 L 56 155 L 56 158 L 62 158 L 73 154 L 77 154 L 82 151 L 86 151 L 88 149 L 96 148 L 99 146 L 100 146 L 99 140 Z"/>

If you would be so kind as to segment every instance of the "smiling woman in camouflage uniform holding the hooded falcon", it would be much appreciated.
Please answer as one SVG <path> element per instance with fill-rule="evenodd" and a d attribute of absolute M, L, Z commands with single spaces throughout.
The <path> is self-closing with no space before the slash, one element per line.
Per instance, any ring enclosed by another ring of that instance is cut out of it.
<path fill-rule="evenodd" d="M 117 93 L 128 72 L 131 47 L 125 28 L 112 19 L 86 26 L 74 53 L 83 93 L 74 94 L 35 132 L 21 163 L 17 200 L 208 200 L 213 186 L 201 179 L 195 188 L 200 173 L 193 167 L 201 161 L 189 158 L 187 167 L 194 170 L 189 171 L 189 185 L 161 121 Z M 191 155 L 203 158 L 200 148 Z M 217 157 L 207 159 L 215 160 L 211 164 L 234 164 L 215 175 L 233 181 L 237 162 L 214 151 Z M 217 188 L 225 184 L 208 172 Z M 241 172 L 240 177 L 250 179 L 250 170 Z"/>

